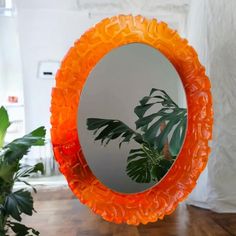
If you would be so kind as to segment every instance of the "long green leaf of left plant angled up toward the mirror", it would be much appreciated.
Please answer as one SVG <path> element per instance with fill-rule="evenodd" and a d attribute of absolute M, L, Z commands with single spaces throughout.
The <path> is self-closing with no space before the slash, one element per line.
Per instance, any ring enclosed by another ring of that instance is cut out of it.
<path fill-rule="evenodd" d="M 45 142 L 46 130 L 39 127 L 33 132 L 15 139 L 13 142 L 3 147 L 5 149 L 4 158 L 8 163 L 18 162 L 26 155 L 32 146 L 42 146 Z"/>

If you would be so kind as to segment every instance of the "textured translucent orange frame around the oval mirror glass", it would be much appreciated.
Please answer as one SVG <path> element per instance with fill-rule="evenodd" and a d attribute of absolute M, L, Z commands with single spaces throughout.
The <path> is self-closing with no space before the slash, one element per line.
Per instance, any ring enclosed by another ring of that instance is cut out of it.
<path fill-rule="evenodd" d="M 104 186 L 86 163 L 77 131 L 77 111 L 86 79 L 99 60 L 128 43 L 162 52 L 180 75 L 188 104 L 188 129 L 179 156 L 157 185 L 122 194 Z M 105 220 L 138 225 L 163 219 L 187 198 L 207 164 L 212 138 L 210 82 L 195 50 L 176 31 L 156 19 L 119 15 L 87 31 L 64 58 L 52 90 L 51 138 L 60 171 L 77 198 Z"/>

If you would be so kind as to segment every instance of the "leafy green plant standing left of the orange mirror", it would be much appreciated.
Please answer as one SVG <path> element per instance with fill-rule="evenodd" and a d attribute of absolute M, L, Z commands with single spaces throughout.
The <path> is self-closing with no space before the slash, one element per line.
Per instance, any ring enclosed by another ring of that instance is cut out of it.
<path fill-rule="evenodd" d="M 43 164 L 26 166 L 20 160 L 31 146 L 44 145 L 45 128 L 33 132 L 4 145 L 4 137 L 10 126 L 9 117 L 4 107 L 0 108 L 0 236 L 8 235 L 11 228 L 16 235 L 39 235 L 39 232 L 20 223 L 22 213 L 32 215 L 34 210 L 31 192 L 26 189 L 14 191 L 16 182 L 26 182 L 26 177 L 43 172 Z M 30 185 L 31 186 L 31 185 Z M 36 192 L 36 189 L 31 186 Z"/>

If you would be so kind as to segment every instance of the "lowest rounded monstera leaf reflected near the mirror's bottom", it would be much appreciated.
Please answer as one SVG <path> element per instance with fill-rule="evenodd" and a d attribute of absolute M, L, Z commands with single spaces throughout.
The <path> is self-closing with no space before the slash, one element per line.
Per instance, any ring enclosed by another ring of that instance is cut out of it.
<path fill-rule="evenodd" d="M 141 149 L 131 149 L 127 161 L 127 175 L 137 183 L 159 181 L 173 164 L 172 160 L 166 160 L 158 151 L 145 145 Z"/>

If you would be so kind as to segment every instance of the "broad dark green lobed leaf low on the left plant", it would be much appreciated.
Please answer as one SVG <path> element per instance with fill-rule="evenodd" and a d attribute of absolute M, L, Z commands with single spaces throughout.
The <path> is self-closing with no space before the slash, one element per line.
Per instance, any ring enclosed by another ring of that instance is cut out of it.
<path fill-rule="evenodd" d="M 4 208 L 6 213 L 17 221 L 21 221 L 22 213 L 31 216 L 34 211 L 31 193 L 21 189 L 9 194 L 6 197 Z"/>

